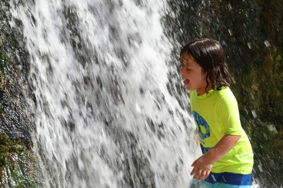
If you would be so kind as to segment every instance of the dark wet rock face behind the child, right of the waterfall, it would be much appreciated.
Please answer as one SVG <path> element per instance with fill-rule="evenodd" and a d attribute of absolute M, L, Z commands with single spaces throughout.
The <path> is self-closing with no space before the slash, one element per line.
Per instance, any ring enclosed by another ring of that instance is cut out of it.
<path fill-rule="evenodd" d="M 283 163 L 278 159 L 283 157 L 283 1 L 170 1 L 170 5 L 175 16 L 169 13 L 164 20 L 171 26 L 168 36 L 176 40 L 177 59 L 181 46 L 195 38 L 213 38 L 224 47 L 231 90 L 255 154 L 253 176 L 262 186 L 282 186 Z"/>

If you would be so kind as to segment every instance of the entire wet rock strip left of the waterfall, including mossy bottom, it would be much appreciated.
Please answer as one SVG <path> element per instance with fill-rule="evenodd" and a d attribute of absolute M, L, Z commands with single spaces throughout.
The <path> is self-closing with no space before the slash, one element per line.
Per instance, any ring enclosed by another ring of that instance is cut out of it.
<path fill-rule="evenodd" d="M 29 57 L 10 18 L 7 1 L 0 1 L 0 186 L 38 187 L 34 182 L 40 172 L 35 172 L 38 162 L 31 151 L 33 116 L 25 99 L 30 95 Z"/>

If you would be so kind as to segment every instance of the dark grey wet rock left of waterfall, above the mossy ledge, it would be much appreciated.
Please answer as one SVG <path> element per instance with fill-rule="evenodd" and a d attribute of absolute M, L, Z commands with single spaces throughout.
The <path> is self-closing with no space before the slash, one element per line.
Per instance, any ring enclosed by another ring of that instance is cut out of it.
<path fill-rule="evenodd" d="M 29 56 L 23 48 L 20 31 L 9 25 L 8 4 L 1 2 L 0 9 L 0 132 L 11 139 L 31 141 L 32 116 L 25 101 L 25 96 L 29 95 L 26 78 Z"/>

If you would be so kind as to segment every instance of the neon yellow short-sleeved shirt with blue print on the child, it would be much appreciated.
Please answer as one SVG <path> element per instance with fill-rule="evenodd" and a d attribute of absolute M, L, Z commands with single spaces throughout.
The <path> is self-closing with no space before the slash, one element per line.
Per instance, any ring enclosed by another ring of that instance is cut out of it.
<path fill-rule="evenodd" d="M 190 101 L 203 154 L 225 134 L 241 136 L 231 151 L 213 164 L 211 171 L 250 174 L 254 154 L 241 126 L 238 104 L 230 88 L 224 87 L 220 91 L 211 89 L 208 94 L 200 96 L 196 90 L 190 91 Z"/>

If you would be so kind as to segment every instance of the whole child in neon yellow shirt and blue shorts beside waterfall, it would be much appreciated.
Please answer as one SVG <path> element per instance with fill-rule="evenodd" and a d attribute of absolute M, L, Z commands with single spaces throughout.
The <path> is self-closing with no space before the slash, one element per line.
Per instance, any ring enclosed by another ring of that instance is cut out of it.
<path fill-rule="evenodd" d="M 192 164 L 191 175 L 201 181 L 195 185 L 250 187 L 254 154 L 228 87 L 222 46 L 212 39 L 196 39 L 183 47 L 180 58 L 203 153 Z"/>

